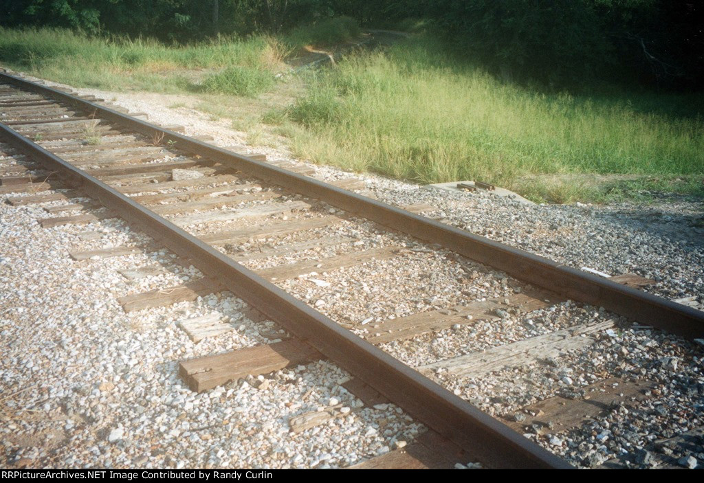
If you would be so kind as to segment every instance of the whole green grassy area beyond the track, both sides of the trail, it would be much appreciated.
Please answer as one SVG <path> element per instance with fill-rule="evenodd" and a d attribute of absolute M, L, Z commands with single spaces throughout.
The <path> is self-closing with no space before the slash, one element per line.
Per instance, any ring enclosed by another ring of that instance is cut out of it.
<path fill-rule="evenodd" d="M 476 179 L 548 202 L 648 190 L 704 197 L 702 96 L 546 94 L 458 63 L 427 37 L 275 78 L 300 46 L 357 33 L 337 19 L 287 37 L 165 46 L 0 30 L 0 61 L 75 86 L 193 94 L 203 110 L 251 131 L 252 142 L 283 135 L 297 155 L 355 171 Z"/>

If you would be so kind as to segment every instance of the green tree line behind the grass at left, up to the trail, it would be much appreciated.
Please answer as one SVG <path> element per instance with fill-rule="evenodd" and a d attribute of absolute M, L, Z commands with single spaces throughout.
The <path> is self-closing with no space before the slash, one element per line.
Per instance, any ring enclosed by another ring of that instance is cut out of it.
<path fill-rule="evenodd" d="M 0 0 L 0 25 L 183 42 L 218 33 L 281 32 L 334 15 L 365 21 L 372 11 L 379 11 L 375 2 L 360 0 Z"/>

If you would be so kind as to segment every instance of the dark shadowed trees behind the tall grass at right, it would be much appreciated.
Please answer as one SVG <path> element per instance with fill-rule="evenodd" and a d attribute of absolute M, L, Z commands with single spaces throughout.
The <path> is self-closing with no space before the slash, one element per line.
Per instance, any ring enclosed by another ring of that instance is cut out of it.
<path fill-rule="evenodd" d="M 458 51 L 509 77 L 704 85 L 704 0 L 427 0 L 421 10 Z"/>

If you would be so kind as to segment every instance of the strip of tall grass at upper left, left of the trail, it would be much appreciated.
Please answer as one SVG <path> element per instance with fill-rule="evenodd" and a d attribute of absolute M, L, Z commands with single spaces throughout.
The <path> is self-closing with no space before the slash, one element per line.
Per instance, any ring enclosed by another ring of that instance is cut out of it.
<path fill-rule="evenodd" d="M 188 46 L 151 39 L 104 39 L 68 30 L 0 28 L 0 60 L 57 82 L 101 89 L 184 91 L 228 67 L 279 70 L 284 48 L 270 37 L 221 38 Z"/>

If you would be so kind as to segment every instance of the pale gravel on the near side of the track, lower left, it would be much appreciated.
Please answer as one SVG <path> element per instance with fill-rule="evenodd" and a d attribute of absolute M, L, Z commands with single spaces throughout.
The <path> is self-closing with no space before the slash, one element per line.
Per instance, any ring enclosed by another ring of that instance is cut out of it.
<path fill-rule="evenodd" d="M 101 246 L 140 237 L 114 220 L 43 229 L 36 221 L 43 216 L 37 207 L 0 206 L 6 465 L 337 467 L 412 441 L 422 429 L 392 404 L 363 407 L 341 387 L 348 373 L 327 362 L 277 371 L 265 386 L 252 379 L 191 392 L 178 377 L 178 361 L 268 343 L 280 329 L 244 318 L 244 304 L 226 293 L 125 314 L 117 297 L 168 287 L 197 271 L 177 269 L 164 250 L 73 262 L 68 250 L 89 248 L 79 238 L 84 231 L 101 232 Z M 156 264 L 168 274 L 149 283 L 118 273 Z M 177 326 L 213 312 L 235 329 L 194 344 Z M 292 416 L 337 404 L 353 411 L 289 433 Z"/>

